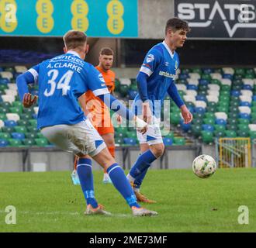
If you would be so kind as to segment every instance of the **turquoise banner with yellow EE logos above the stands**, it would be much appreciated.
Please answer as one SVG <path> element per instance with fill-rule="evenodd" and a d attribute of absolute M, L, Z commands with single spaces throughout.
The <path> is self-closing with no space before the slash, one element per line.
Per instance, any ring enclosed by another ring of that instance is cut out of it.
<path fill-rule="evenodd" d="M 0 0 L 0 36 L 137 37 L 137 0 Z"/>

